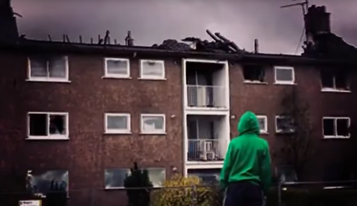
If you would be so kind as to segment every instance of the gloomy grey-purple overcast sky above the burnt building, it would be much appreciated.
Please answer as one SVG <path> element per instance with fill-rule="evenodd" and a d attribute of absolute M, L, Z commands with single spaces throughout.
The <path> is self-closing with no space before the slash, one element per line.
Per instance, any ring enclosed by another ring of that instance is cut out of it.
<path fill-rule="evenodd" d="M 298 0 L 297 0 L 298 1 Z M 248 51 L 259 39 L 259 52 L 295 54 L 302 34 L 301 7 L 279 8 L 293 0 L 12 0 L 19 31 L 28 38 L 50 34 L 74 41 L 105 35 L 124 42 L 132 31 L 135 45 L 151 46 L 187 36 L 211 38 L 220 32 Z M 357 46 L 357 0 L 310 0 L 332 13 L 332 31 Z M 300 51 L 300 50 L 299 50 Z"/>

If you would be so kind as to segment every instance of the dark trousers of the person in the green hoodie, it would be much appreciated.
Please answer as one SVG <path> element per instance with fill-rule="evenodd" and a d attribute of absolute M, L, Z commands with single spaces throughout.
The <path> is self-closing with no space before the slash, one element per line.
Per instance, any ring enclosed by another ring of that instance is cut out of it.
<path fill-rule="evenodd" d="M 230 183 L 224 206 L 263 206 L 264 195 L 260 186 L 249 181 Z"/>

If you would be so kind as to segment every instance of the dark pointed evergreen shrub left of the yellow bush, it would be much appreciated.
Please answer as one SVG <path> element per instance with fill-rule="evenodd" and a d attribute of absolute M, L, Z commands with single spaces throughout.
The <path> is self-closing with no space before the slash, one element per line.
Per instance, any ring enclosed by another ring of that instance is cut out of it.
<path fill-rule="evenodd" d="M 153 185 L 150 182 L 148 171 L 139 169 L 136 162 L 134 162 L 134 167 L 130 171 L 131 174 L 124 180 L 128 206 L 149 206 Z"/>

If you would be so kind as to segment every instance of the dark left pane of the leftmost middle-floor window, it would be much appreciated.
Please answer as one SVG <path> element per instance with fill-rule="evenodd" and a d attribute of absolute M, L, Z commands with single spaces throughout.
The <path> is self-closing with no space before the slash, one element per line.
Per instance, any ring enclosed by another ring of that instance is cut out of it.
<path fill-rule="evenodd" d="M 30 136 L 47 136 L 47 114 L 29 114 Z"/>

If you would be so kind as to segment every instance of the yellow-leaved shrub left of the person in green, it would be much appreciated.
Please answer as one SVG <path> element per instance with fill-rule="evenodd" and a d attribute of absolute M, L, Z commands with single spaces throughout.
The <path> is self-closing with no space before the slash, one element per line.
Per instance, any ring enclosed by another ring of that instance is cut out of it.
<path fill-rule="evenodd" d="M 212 206 L 217 194 L 198 177 L 175 175 L 154 193 L 153 206 Z"/>

